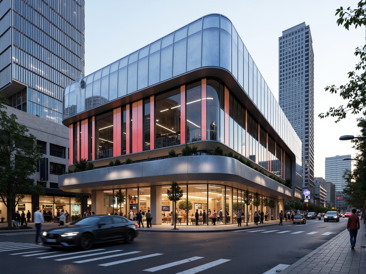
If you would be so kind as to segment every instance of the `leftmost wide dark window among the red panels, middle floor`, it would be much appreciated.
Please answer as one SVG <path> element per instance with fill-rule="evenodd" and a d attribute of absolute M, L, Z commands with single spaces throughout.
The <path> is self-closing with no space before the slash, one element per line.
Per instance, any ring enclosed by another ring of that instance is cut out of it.
<path fill-rule="evenodd" d="M 96 118 L 97 159 L 113 156 L 113 112 L 107 112 Z"/>

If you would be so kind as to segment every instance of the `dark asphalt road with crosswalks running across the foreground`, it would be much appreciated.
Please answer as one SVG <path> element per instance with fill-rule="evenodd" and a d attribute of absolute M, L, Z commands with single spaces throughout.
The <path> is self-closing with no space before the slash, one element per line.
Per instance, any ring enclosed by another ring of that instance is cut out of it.
<path fill-rule="evenodd" d="M 0 234 L 1 269 L 27 273 L 250 273 L 292 264 L 346 229 L 340 222 L 212 233 L 140 232 L 132 244 L 95 245 L 90 251 L 34 244 L 34 232 Z M 28 234 L 29 233 L 29 234 Z"/>

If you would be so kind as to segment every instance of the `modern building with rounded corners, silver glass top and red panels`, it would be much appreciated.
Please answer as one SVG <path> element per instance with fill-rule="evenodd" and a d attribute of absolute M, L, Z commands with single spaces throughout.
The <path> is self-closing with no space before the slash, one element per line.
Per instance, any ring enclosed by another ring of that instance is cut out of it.
<path fill-rule="evenodd" d="M 91 193 L 96 214 L 150 209 L 160 224 L 164 211 L 176 210 L 190 224 L 195 209 L 223 208 L 232 222 L 238 209 L 252 220 L 274 200 L 276 218 L 284 200 L 301 199 L 301 141 L 223 15 L 199 18 L 68 85 L 63 123 L 70 169 L 81 159 L 98 169 L 61 175 L 59 187 Z M 197 155 L 182 156 L 186 144 Z M 134 163 L 109 164 L 128 158 Z M 176 209 L 166 194 L 172 181 L 184 192 Z M 123 208 L 114 202 L 119 189 Z M 245 190 L 259 204 L 244 205 Z"/>

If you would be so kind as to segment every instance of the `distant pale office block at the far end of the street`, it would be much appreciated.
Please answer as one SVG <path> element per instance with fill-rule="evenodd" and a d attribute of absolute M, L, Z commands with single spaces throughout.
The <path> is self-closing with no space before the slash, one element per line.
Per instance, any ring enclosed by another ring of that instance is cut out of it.
<path fill-rule="evenodd" d="M 351 155 L 325 158 L 325 181 L 336 185 L 336 208 L 346 210 L 347 204 L 343 195 L 345 181 L 342 176 L 344 171 L 351 170 L 351 161 L 343 161 L 343 158 L 351 158 Z"/>

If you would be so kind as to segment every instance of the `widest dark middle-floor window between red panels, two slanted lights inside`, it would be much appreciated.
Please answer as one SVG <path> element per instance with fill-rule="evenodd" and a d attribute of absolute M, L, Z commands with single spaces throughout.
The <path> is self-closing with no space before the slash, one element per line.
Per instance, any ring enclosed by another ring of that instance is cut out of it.
<path fill-rule="evenodd" d="M 180 89 L 156 96 L 156 148 L 180 144 Z"/>

